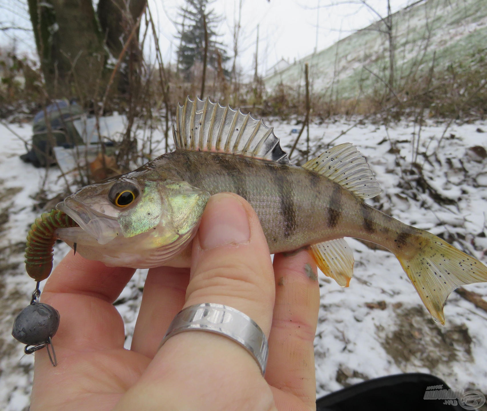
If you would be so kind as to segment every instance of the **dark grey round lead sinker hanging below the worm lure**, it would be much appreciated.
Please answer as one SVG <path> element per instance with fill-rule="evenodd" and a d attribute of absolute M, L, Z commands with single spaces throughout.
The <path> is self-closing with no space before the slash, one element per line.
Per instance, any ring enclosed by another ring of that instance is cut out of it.
<path fill-rule="evenodd" d="M 30 304 L 15 318 L 12 336 L 26 345 L 46 343 L 59 327 L 57 310 L 42 302 Z"/>

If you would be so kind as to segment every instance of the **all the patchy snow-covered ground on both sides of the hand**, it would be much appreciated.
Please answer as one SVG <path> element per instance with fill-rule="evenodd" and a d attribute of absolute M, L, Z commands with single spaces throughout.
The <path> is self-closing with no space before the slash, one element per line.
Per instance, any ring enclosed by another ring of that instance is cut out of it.
<path fill-rule="evenodd" d="M 311 151 L 350 128 L 354 121 L 333 120 L 310 127 Z M 300 126 L 269 120 L 287 151 Z M 29 139 L 31 125 L 9 127 Z M 404 223 L 453 239 L 454 245 L 487 262 L 487 159 L 474 146 L 486 147 L 487 122 L 427 122 L 420 131 L 422 169 L 411 166 L 412 139 L 418 126 L 401 122 L 385 127 L 356 124 L 336 144 L 351 142 L 367 157 L 383 193 L 370 204 Z M 300 149 L 306 146 L 301 136 Z M 319 151 L 323 149 L 318 149 Z M 34 198 L 45 181 L 47 198 L 63 190 L 57 168 L 24 164 L 24 144 L 0 125 L 0 409 L 27 410 L 33 377 L 31 355 L 10 333 L 13 319 L 30 301 L 35 282 L 25 274 L 23 249 L 30 224 L 40 214 Z M 426 153 L 426 155 L 423 155 Z M 296 154 L 294 157 L 298 157 Z M 412 170 L 412 171 L 411 171 Z M 355 250 L 355 277 L 343 289 L 320 278 L 321 307 L 315 339 L 317 395 L 388 374 L 426 372 L 451 388 L 487 393 L 487 313 L 452 293 L 445 306 L 446 325 L 434 323 L 395 257 L 349 240 Z M 55 264 L 66 254 L 56 244 Z M 130 346 L 145 272 L 137 271 L 116 302 Z M 468 290 L 487 298 L 487 283 Z"/>

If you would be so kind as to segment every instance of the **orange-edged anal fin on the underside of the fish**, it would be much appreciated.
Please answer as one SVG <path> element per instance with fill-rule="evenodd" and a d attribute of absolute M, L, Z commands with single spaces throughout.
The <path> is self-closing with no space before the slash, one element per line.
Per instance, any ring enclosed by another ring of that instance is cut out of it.
<path fill-rule="evenodd" d="M 314 244 L 310 253 L 325 276 L 331 277 L 342 287 L 348 287 L 354 275 L 354 253 L 345 239 Z"/>

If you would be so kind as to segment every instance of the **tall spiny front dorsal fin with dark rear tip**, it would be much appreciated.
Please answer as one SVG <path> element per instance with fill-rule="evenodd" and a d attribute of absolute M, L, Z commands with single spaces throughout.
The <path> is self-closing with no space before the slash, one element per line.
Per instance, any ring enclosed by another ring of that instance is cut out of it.
<path fill-rule="evenodd" d="M 173 127 L 172 132 L 176 149 L 214 151 L 290 163 L 272 128 L 250 114 L 212 103 L 209 98 L 191 101 L 188 97 L 183 106 L 178 105 L 176 129 Z"/>

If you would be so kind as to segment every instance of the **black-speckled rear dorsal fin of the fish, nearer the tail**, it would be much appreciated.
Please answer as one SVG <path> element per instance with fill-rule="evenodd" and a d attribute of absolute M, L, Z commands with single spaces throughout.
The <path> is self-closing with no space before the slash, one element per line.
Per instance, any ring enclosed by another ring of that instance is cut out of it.
<path fill-rule="evenodd" d="M 332 147 L 301 167 L 328 177 L 360 198 L 375 197 L 381 192 L 364 156 L 352 143 Z"/>

